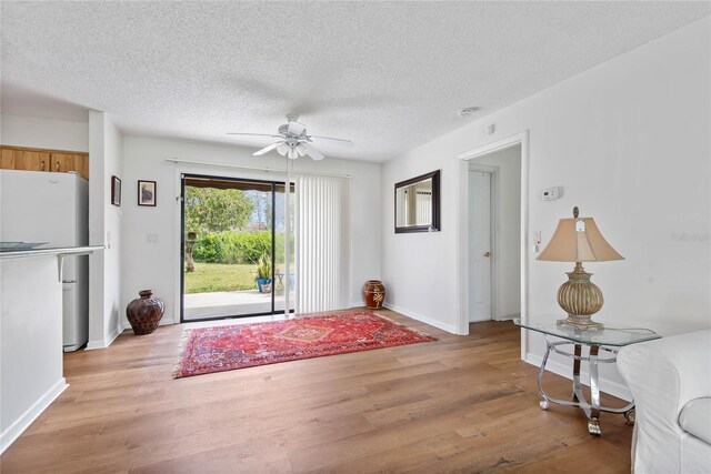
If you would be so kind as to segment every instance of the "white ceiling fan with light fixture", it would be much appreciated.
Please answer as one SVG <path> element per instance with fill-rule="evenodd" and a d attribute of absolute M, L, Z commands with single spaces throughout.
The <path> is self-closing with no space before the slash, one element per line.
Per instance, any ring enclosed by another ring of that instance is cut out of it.
<path fill-rule="evenodd" d="M 313 148 L 313 141 L 332 142 L 341 145 L 353 147 L 353 142 L 350 140 L 332 139 L 329 137 L 317 137 L 307 133 L 307 127 L 303 123 L 299 123 L 299 115 L 289 113 L 287 114 L 287 123 L 279 125 L 279 132 L 272 133 L 236 133 L 230 132 L 229 135 L 244 135 L 244 137 L 271 137 L 278 139 L 269 147 L 264 147 L 261 150 L 256 151 L 254 157 L 268 153 L 272 150 L 277 150 L 282 157 L 289 157 L 296 160 L 299 157 L 309 155 L 311 159 L 318 161 L 323 160 L 326 157 L 319 150 Z"/>

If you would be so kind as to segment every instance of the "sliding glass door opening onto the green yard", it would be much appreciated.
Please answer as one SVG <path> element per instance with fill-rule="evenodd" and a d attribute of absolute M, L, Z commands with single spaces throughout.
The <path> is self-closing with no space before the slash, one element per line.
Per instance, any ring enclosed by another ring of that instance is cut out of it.
<path fill-rule="evenodd" d="M 284 313 L 287 291 L 293 311 L 284 183 L 183 174 L 181 184 L 181 322 Z"/>

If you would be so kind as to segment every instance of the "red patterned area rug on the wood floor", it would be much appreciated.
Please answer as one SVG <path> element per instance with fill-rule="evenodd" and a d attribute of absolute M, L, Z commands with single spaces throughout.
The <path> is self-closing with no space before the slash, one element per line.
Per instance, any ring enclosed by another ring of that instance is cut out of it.
<path fill-rule="evenodd" d="M 370 312 L 186 330 L 173 377 L 437 341 Z"/>

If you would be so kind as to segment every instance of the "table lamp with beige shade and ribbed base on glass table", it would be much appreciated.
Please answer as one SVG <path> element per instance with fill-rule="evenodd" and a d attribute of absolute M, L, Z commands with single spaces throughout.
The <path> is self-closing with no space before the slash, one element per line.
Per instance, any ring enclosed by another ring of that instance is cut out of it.
<path fill-rule="evenodd" d="M 581 330 L 602 329 L 602 323 L 592 321 L 591 315 L 600 311 L 604 299 L 602 291 L 590 281 L 592 273 L 585 272 L 582 262 L 608 262 L 624 260 L 600 233 L 592 218 L 578 218 L 573 208 L 572 219 L 558 221 L 555 233 L 535 260 L 548 262 L 575 262 L 568 281 L 558 289 L 558 304 L 568 317 L 558 324 Z"/>

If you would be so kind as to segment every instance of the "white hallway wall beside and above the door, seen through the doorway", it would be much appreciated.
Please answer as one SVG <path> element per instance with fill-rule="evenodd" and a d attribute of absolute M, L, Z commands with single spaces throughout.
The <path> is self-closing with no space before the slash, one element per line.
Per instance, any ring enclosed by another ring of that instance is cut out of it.
<path fill-rule="evenodd" d="M 515 145 L 470 161 L 497 167 L 499 189 L 498 232 L 500 248 L 493 258 L 499 285 L 494 319 L 521 315 L 521 147 Z M 492 196 L 493 198 L 493 196 Z"/>

